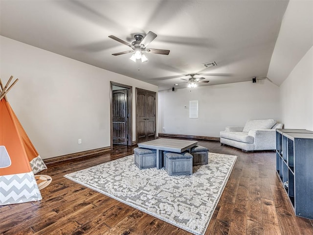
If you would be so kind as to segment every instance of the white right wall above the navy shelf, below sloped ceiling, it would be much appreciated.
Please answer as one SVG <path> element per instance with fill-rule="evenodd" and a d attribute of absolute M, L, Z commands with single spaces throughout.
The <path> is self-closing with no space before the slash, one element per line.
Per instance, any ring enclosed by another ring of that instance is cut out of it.
<path fill-rule="evenodd" d="M 313 131 L 313 47 L 280 86 L 285 128 Z"/>

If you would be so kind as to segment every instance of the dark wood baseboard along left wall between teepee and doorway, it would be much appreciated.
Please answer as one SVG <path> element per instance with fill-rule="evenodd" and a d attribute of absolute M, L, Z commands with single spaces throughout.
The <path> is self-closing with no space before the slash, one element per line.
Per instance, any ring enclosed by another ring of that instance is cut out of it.
<path fill-rule="evenodd" d="M 109 150 L 111 150 L 111 147 L 97 148 L 97 149 L 82 151 L 82 152 L 78 152 L 78 153 L 71 153 L 71 154 L 66 154 L 66 155 L 62 155 L 62 156 L 46 158 L 43 160 L 44 160 L 44 163 L 46 165 L 48 165 L 48 164 L 64 162 L 64 161 L 77 159 L 77 158 L 94 157 L 94 156 L 101 155 L 101 154 L 103 154 Z"/>

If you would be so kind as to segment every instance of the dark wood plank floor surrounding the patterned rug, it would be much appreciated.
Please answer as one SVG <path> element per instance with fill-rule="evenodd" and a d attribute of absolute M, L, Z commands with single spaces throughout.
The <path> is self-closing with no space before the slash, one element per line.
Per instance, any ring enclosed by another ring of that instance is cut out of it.
<path fill-rule="evenodd" d="M 238 156 L 205 235 L 313 235 L 313 221 L 294 215 L 276 173 L 275 153 L 245 153 L 218 141 L 210 152 Z M 0 235 L 191 235 L 63 176 L 133 154 L 117 146 L 101 156 L 48 165 L 52 183 L 38 202 L 0 206 Z"/>

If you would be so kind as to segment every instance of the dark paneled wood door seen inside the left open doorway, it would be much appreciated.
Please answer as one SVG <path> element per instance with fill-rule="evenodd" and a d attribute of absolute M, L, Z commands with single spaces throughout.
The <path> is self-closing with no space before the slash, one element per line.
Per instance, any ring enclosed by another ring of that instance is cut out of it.
<path fill-rule="evenodd" d="M 112 92 L 112 139 L 113 144 L 127 145 L 127 89 Z"/>

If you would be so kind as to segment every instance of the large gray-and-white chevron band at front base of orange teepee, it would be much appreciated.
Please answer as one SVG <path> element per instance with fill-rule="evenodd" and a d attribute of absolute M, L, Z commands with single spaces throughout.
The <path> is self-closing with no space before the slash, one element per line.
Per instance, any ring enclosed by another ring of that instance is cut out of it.
<path fill-rule="evenodd" d="M 41 200 L 34 173 L 0 176 L 0 206 Z"/>

